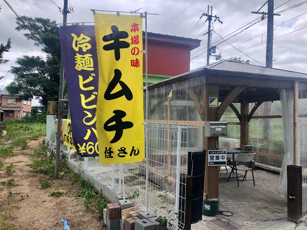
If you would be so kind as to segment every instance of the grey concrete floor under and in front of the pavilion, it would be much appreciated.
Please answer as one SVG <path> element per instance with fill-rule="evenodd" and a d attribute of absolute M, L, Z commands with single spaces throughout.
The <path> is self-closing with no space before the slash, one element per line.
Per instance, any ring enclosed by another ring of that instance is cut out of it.
<path fill-rule="evenodd" d="M 255 170 L 254 175 L 256 186 L 253 181 L 239 181 L 238 187 L 236 178 L 231 178 L 229 182 L 227 178 L 220 178 L 220 213 L 228 211 L 233 215 L 203 216 L 203 220 L 192 225 L 193 230 L 307 229 L 305 217 L 300 224 L 287 220 L 286 197 L 278 195 L 279 175 L 260 170 Z M 251 179 L 250 172 L 247 179 Z M 243 221 L 252 221 L 257 225 L 247 226 Z"/>

